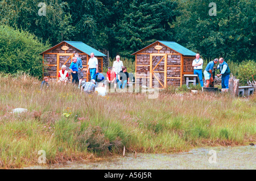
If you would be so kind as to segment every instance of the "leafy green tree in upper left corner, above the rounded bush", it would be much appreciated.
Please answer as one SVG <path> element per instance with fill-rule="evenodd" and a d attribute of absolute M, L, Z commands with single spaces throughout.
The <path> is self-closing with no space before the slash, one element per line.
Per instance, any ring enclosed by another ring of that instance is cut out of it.
<path fill-rule="evenodd" d="M 47 0 L 45 2 L 46 14 L 40 15 L 40 0 L 2 0 L 0 2 L 0 22 L 14 28 L 26 30 L 49 40 L 53 45 L 63 40 L 71 40 L 75 31 L 72 26 L 71 15 L 65 10 L 68 3 L 60 0 Z"/>

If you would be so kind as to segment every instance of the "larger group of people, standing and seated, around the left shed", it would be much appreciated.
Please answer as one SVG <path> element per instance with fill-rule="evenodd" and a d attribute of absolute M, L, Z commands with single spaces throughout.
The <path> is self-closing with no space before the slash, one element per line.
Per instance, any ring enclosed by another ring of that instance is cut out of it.
<path fill-rule="evenodd" d="M 114 89 L 125 89 L 129 84 L 129 74 L 127 73 L 127 68 L 123 66 L 123 62 L 120 60 L 120 56 L 115 57 L 116 60 L 113 62 L 113 67 L 108 68 L 106 73 L 106 79 L 103 74 L 98 73 L 98 59 L 94 57 L 94 53 L 90 54 L 90 59 L 88 61 L 87 73 L 90 73 L 91 81 L 85 82 L 84 74 L 82 73 L 82 60 L 78 53 L 72 58 L 69 70 L 71 70 L 72 83 L 78 84 L 79 89 L 81 87 L 81 92 L 94 92 L 97 91 L 100 95 L 106 94 L 106 89 L 111 85 L 114 85 Z M 67 84 L 68 82 L 68 71 L 66 66 L 62 65 L 61 70 L 59 70 L 58 82 Z M 104 81 L 105 80 L 105 81 Z M 41 87 L 48 87 L 48 77 L 44 77 Z M 96 82 L 101 82 L 96 87 Z"/>

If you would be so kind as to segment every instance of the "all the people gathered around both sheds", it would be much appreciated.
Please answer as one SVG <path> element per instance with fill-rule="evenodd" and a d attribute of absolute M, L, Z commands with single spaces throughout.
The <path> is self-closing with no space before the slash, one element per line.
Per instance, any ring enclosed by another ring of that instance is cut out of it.
<path fill-rule="evenodd" d="M 106 79 L 104 78 L 104 75 L 101 75 L 98 73 L 98 59 L 94 57 L 94 53 L 90 54 L 90 59 L 88 61 L 88 68 L 87 73 L 90 73 L 90 82 L 83 81 L 84 74 L 82 73 L 82 60 L 79 57 L 78 53 L 75 53 L 75 56 L 72 58 L 71 65 L 69 66 L 69 70 L 71 70 L 72 75 L 72 83 L 76 83 L 79 85 L 79 89 L 81 86 L 81 92 L 93 92 L 96 89 L 96 82 L 97 78 L 101 82 L 98 85 L 98 88 L 100 88 L 100 92 L 103 92 L 104 88 L 105 90 L 108 87 L 111 87 L 111 85 L 114 85 L 114 89 L 125 89 L 127 85 L 129 85 L 129 74 L 127 73 L 127 68 L 123 66 L 123 62 L 120 60 L 120 56 L 115 57 L 115 61 L 113 62 L 113 67 L 108 68 L 108 72 L 106 73 Z M 217 64 L 217 62 L 220 62 L 220 64 L 217 66 L 217 68 L 214 68 L 214 64 Z M 193 73 L 198 75 L 200 85 L 201 87 L 204 86 L 203 82 L 203 64 L 204 61 L 202 58 L 200 58 L 200 54 L 196 54 L 195 60 L 192 62 L 193 66 Z M 210 83 L 213 82 L 213 70 L 214 69 L 220 69 L 220 74 L 217 74 L 217 76 L 221 76 L 221 87 L 222 89 L 228 89 L 229 88 L 229 75 L 230 75 L 230 69 L 228 64 L 224 61 L 224 58 L 215 58 L 213 61 L 210 61 L 205 70 L 204 70 L 204 78 L 206 81 L 205 87 L 209 87 Z M 66 70 L 66 66 L 62 65 L 61 70 L 59 71 L 59 81 L 64 84 L 67 84 L 68 81 L 68 71 Z M 105 81 L 103 81 L 105 79 Z M 42 82 L 42 86 L 49 86 L 48 85 L 48 77 L 44 77 L 44 80 Z M 104 83 L 103 83 L 104 82 Z M 105 92 L 105 91 L 104 91 Z M 102 93 L 103 94 L 103 93 Z"/>

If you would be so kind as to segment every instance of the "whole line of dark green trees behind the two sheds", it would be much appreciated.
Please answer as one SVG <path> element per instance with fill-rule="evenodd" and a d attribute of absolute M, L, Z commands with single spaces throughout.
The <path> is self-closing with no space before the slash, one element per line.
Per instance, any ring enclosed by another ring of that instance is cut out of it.
<path fill-rule="evenodd" d="M 43 43 L 82 41 L 109 50 L 110 57 L 131 53 L 156 40 L 176 41 L 205 60 L 255 60 L 254 0 L 1 0 L 0 22 L 34 34 Z M 45 14 L 40 14 L 44 11 Z M 133 57 L 134 58 L 134 57 Z"/>

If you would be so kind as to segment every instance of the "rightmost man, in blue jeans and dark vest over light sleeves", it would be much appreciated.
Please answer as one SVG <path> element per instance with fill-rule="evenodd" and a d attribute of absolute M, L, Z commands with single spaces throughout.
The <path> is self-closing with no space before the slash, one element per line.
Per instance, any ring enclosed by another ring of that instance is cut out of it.
<path fill-rule="evenodd" d="M 221 89 L 229 89 L 229 66 L 224 61 L 224 58 L 220 58 L 218 61 L 220 62 L 220 64 L 218 64 L 217 69 L 220 69 L 221 73 L 217 74 L 217 76 L 221 76 Z"/>

